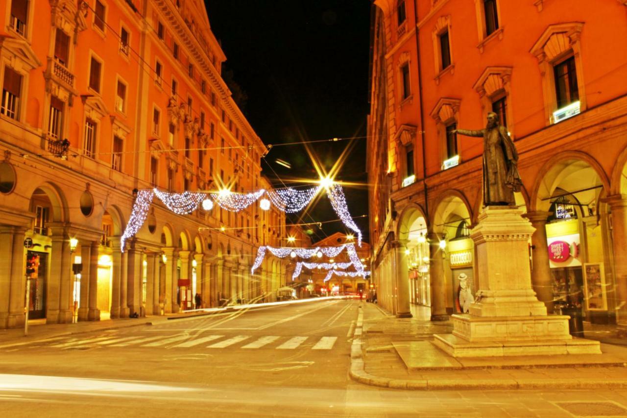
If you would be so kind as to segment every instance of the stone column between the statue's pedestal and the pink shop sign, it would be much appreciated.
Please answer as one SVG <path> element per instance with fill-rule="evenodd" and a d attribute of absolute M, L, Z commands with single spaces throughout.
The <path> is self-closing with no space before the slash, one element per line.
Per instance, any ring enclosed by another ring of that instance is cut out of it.
<path fill-rule="evenodd" d="M 547 217 L 551 212 L 529 212 L 524 215 L 535 228 L 531 236 L 532 272 L 531 284 L 539 301 L 544 302 L 547 313 L 553 313 L 553 277 L 549 265 L 549 247 L 547 245 Z"/>

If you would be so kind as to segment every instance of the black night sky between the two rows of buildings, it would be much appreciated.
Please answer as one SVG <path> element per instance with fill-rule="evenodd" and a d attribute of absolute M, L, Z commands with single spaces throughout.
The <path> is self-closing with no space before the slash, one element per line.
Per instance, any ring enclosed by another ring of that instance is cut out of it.
<path fill-rule="evenodd" d="M 221 41 L 223 78 L 253 129 L 267 144 L 351 138 L 354 147 L 335 180 L 344 186 L 350 213 L 367 215 L 366 115 L 370 4 L 357 0 L 205 0 L 209 23 Z M 241 87 L 245 99 L 240 100 Z M 327 171 L 350 141 L 311 144 Z M 292 165 L 285 168 L 275 161 Z M 301 144 L 276 146 L 261 161 L 277 187 L 318 175 Z M 275 175 L 272 169 L 278 174 Z M 292 222 L 337 219 L 325 195 Z M 367 241 L 367 218 L 357 218 Z M 341 222 L 312 227 L 314 240 L 349 232 Z"/>

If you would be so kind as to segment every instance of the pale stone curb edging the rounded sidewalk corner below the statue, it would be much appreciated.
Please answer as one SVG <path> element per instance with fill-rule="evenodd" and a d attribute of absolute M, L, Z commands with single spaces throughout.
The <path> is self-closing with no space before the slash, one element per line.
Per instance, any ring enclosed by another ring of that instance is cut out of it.
<path fill-rule="evenodd" d="M 359 307 L 357 324 L 350 346 L 350 371 L 352 380 L 365 385 L 403 390 L 477 390 L 477 389 L 627 389 L 627 379 L 573 378 L 573 379 L 423 379 L 403 380 L 378 377 L 366 372 L 361 333 L 364 312 Z"/>

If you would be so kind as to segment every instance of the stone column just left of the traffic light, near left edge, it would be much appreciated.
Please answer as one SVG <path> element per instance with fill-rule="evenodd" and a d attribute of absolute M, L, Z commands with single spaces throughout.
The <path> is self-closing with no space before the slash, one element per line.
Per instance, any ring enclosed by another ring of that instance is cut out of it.
<path fill-rule="evenodd" d="M 24 237 L 26 228 L 13 228 L 11 251 L 11 291 L 9 293 L 9 328 L 24 325 L 24 299 L 26 292 L 26 267 L 24 265 Z"/>

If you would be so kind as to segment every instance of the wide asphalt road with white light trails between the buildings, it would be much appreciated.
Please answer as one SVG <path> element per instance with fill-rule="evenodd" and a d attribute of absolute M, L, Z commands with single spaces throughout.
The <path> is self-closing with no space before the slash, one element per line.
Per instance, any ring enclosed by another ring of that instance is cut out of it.
<path fill-rule="evenodd" d="M 560 402 L 599 412 L 627 404 L 620 390 L 414 392 L 352 382 L 358 306 L 316 301 L 0 348 L 0 416 L 572 417 Z"/>

